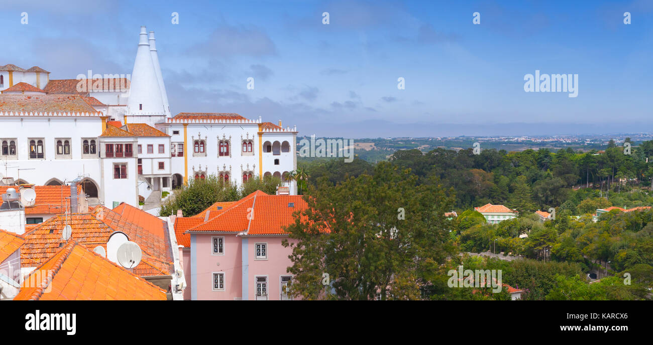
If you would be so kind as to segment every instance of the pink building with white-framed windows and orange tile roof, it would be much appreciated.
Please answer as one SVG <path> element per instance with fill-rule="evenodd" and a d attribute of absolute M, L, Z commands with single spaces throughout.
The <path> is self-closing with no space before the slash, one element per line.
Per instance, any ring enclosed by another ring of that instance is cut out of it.
<path fill-rule="evenodd" d="M 232 203 L 215 203 L 194 217 L 176 217 L 187 288 L 184 299 L 290 299 L 291 248 L 282 226 L 306 209 L 302 196 L 260 190 Z"/>

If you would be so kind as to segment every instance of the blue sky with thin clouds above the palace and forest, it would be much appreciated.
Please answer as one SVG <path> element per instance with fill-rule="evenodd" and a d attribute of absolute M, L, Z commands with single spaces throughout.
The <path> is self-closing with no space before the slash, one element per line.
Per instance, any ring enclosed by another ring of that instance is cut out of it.
<path fill-rule="evenodd" d="M 53 79 L 131 73 L 147 25 L 173 113 L 300 135 L 653 132 L 653 1 L 32 1 L 0 20 L 0 64 Z M 536 69 L 578 74 L 578 97 L 524 92 Z"/>

